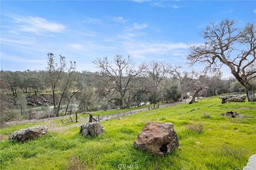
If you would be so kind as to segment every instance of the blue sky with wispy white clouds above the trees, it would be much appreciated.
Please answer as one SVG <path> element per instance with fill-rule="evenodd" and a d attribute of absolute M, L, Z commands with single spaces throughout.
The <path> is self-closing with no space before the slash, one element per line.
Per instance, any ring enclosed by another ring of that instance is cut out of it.
<path fill-rule="evenodd" d="M 96 71 L 97 57 L 116 55 L 137 64 L 186 65 L 187 47 L 210 22 L 256 23 L 256 1 L 2 1 L 1 70 L 44 70 L 47 53 L 77 71 Z M 225 72 L 225 70 L 223 70 Z"/>

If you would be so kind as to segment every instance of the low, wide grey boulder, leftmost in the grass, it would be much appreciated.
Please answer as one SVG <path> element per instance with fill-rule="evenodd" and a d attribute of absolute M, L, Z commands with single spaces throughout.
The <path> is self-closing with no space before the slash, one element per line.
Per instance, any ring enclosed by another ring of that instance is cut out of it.
<path fill-rule="evenodd" d="M 20 129 L 14 131 L 9 136 L 9 140 L 16 140 L 17 142 L 25 142 L 38 137 L 44 137 L 48 131 L 48 127 L 43 125 L 37 125 L 34 127 L 28 127 L 27 129 Z"/>

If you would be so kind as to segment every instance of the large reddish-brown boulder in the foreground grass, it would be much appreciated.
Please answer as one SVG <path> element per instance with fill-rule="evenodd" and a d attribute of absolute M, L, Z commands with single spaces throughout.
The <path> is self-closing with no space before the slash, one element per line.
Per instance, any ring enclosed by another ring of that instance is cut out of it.
<path fill-rule="evenodd" d="M 168 154 L 178 147 L 179 141 L 172 123 L 147 121 L 134 140 L 135 149 L 158 155 Z"/>

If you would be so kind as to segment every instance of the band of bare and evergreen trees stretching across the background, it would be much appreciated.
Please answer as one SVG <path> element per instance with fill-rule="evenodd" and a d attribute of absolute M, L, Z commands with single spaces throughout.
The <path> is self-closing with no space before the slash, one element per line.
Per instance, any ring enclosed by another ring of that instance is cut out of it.
<path fill-rule="evenodd" d="M 8 102 L 17 98 L 20 114 L 26 111 L 27 94 L 42 93 L 52 96 L 54 112 L 58 116 L 62 104 L 72 112 L 79 101 L 80 111 L 128 108 L 141 104 L 181 101 L 192 96 L 214 96 L 229 92 L 245 92 L 249 102 L 256 101 L 256 36 L 253 24 L 243 29 L 234 27 L 236 21 L 224 20 L 219 25 L 211 23 L 200 35 L 204 45 L 191 46 L 188 63 L 204 63 L 204 72 L 182 72 L 181 66 L 161 61 L 137 65 L 130 56 L 116 55 L 113 60 L 97 58 L 92 63 L 98 72 L 76 71 L 76 62 L 66 63 L 66 58 L 47 54 L 47 67 L 40 71 L 0 72 L 1 121 L 10 121 L 15 107 Z M 234 52 L 235 51 L 235 52 Z M 234 54 L 233 54 L 234 53 Z M 226 65 L 233 77 L 222 78 L 220 68 Z M 16 107 L 17 107 L 16 106 Z M 6 118 L 5 118 L 6 117 Z"/>

